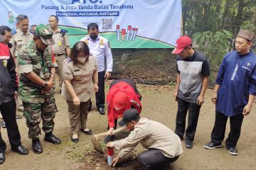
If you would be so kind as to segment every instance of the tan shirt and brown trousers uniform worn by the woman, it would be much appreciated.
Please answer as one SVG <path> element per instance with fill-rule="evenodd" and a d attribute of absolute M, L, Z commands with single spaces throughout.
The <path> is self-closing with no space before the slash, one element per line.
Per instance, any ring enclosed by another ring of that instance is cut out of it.
<path fill-rule="evenodd" d="M 63 62 L 63 79 L 72 80 L 71 85 L 75 94 L 80 98 L 80 106 L 73 104 L 73 98 L 63 85 L 62 94 L 68 103 L 68 115 L 70 118 L 70 126 L 72 134 L 78 134 L 79 129 L 84 130 L 88 114 L 88 106 L 90 98 L 93 94 L 94 83 L 92 81 L 93 73 L 97 72 L 97 62 L 95 57 L 90 56 L 89 60 L 82 64 L 74 64 L 70 58 Z M 81 127 L 80 127 L 81 126 Z"/>

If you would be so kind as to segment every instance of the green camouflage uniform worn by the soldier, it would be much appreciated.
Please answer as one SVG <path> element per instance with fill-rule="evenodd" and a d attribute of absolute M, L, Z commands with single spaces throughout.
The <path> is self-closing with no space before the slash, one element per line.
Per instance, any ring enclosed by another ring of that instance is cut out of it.
<path fill-rule="evenodd" d="M 50 47 L 45 51 L 39 51 L 33 41 L 28 42 L 18 53 L 18 65 L 20 70 L 18 94 L 23 101 L 24 117 L 28 126 L 28 137 L 38 139 L 41 135 L 39 124 L 43 120 L 43 131 L 53 131 L 53 118 L 58 111 L 53 97 L 53 91 L 42 94 L 43 86 L 40 86 L 25 76 L 34 72 L 43 79 L 50 79 L 50 69 L 57 68 L 55 57 Z"/>

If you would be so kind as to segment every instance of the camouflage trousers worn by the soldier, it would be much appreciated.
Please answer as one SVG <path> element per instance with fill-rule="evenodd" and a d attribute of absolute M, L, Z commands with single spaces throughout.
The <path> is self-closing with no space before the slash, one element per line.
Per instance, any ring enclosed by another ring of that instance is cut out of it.
<path fill-rule="evenodd" d="M 43 122 L 43 132 L 53 131 L 53 118 L 55 118 L 55 113 L 58 112 L 53 93 L 42 95 L 46 98 L 45 103 L 23 102 L 23 116 L 26 118 L 26 125 L 28 126 L 28 137 L 32 140 L 37 139 L 41 135 L 41 128 L 39 126 L 41 119 Z"/>

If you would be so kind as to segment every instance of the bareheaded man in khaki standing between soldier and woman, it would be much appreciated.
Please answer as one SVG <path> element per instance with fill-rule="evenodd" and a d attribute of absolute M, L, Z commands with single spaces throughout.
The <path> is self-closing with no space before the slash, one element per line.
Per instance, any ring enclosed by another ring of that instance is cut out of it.
<path fill-rule="evenodd" d="M 49 18 L 49 26 L 53 29 L 53 39 L 55 41 L 55 44 L 52 47 L 56 62 L 58 64 L 56 73 L 60 77 L 59 86 L 61 89 L 63 84 L 63 61 L 65 60 L 65 53 L 67 53 L 68 57 L 70 56 L 70 42 L 68 41 L 68 34 L 66 33 L 66 30 L 61 30 L 58 28 L 58 21 L 58 16 L 52 15 Z"/>

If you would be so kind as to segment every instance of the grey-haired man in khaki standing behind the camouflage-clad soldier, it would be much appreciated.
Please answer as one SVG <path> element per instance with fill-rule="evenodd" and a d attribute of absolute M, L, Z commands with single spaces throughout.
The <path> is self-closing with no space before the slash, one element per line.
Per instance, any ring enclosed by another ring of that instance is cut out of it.
<path fill-rule="evenodd" d="M 29 41 L 33 40 L 33 35 L 28 32 L 28 16 L 25 15 L 18 15 L 16 17 L 16 23 L 18 26 L 18 29 L 16 30 L 16 33 L 11 38 L 11 53 L 14 56 L 14 61 L 16 64 L 16 68 L 18 69 L 18 61 L 17 56 L 18 52 L 21 50 L 21 47 L 23 45 L 26 45 Z M 17 106 L 20 111 L 23 111 L 23 106 L 20 98 L 17 100 Z M 22 118 L 21 115 L 17 115 L 17 118 Z"/>

